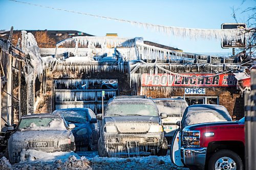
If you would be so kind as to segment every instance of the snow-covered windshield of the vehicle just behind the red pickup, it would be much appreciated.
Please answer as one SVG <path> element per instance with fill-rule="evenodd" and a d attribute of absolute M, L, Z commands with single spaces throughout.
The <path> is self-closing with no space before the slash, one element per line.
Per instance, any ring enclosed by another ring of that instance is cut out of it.
<path fill-rule="evenodd" d="M 232 121 L 227 109 L 218 105 L 188 107 L 184 114 L 183 127 L 200 123 Z"/>

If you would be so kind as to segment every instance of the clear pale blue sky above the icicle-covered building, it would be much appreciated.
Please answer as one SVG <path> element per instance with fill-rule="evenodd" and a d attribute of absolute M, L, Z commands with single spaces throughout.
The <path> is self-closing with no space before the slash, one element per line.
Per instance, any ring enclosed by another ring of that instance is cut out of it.
<path fill-rule="evenodd" d="M 242 0 L 18 1 L 155 25 L 197 29 L 220 29 L 222 23 L 236 22 L 232 18 L 232 8 L 238 9 L 238 21 L 244 22 L 248 14 L 241 12 L 256 5 L 255 0 L 246 0 L 243 4 Z M 8 0 L 0 0 L 0 18 L 0 30 L 9 30 L 13 26 L 14 30 L 77 30 L 96 36 L 117 33 L 119 37 L 143 37 L 144 40 L 178 47 L 190 53 L 231 53 L 232 51 L 232 49 L 222 49 L 219 40 L 193 40 L 167 36 L 132 26 L 129 23 L 56 11 Z"/>

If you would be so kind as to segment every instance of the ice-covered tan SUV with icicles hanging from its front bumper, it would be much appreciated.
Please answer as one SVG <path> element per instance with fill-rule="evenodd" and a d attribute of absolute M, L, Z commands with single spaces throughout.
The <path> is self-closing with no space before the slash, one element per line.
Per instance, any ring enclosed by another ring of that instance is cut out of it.
<path fill-rule="evenodd" d="M 166 155 L 161 117 L 151 99 L 140 96 L 116 96 L 109 100 L 102 119 L 98 153 L 100 157 Z"/>

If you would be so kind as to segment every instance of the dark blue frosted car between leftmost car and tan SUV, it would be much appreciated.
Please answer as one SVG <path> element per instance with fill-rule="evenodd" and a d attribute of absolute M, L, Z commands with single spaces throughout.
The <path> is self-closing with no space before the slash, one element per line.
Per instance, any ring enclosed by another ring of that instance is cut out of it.
<path fill-rule="evenodd" d="M 72 129 L 77 151 L 91 151 L 97 146 L 99 126 L 95 113 L 89 108 L 69 108 L 54 110 L 61 114 L 68 124 L 75 124 Z"/>

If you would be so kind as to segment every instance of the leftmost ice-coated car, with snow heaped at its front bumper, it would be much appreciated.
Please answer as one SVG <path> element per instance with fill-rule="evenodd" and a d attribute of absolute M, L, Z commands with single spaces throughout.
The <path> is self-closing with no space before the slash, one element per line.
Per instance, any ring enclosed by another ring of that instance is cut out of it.
<path fill-rule="evenodd" d="M 20 152 L 37 150 L 44 152 L 74 151 L 75 139 L 71 129 L 59 114 L 32 114 L 20 118 L 15 132 L 8 140 L 10 162 L 20 161 Z"/>

